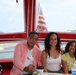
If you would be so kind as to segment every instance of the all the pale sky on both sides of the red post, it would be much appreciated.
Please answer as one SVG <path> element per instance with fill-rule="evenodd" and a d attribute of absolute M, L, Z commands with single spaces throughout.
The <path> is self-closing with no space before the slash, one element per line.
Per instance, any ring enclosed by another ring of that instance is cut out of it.
<path fill-rule="evenodd" d="M 48 31 L 76 30 L 76 0 L 40 0 L 40 7 Z M 24 32 L 23 0 L 0 0 L 0 33 L 9 31 Z"/>

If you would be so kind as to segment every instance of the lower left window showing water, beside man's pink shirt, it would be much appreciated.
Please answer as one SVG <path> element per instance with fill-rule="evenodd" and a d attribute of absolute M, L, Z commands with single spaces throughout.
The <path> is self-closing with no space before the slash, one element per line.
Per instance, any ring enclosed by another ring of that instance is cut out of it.
<path fill-rule="evenodd" d="M 10 41 L 10 42 L 2 42 L 0 43 L 0 60 L 4 59 L 12 59 L 15 46 L 20 41 Z"/>

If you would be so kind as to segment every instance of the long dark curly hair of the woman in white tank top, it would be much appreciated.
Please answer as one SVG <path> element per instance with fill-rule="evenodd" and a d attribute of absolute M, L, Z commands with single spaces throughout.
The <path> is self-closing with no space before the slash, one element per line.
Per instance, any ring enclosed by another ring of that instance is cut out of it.
<path fill-rule="evenodd" d="M 44 41 L 44 47 L 45 47 L 45 52 L 50 56 L 50 49 L 51 49 L 51 45 L 50 45 L 50 36 L 52 36 L 53 34 L 55 34 L 57 36 L 57 45 L 56 45 L 56 49 L 60 52 L 60 38 L 58 36 L 58 34 L 56 32 L 50 32 Z"/>

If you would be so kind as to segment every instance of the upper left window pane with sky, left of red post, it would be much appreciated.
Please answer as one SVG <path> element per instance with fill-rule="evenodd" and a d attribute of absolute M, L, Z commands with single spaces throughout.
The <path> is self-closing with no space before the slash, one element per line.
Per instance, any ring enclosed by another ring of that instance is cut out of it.
<path fill-rule="evenodd" d="M 0 34 L 24 32 L 23 0 L 0 0 Z"/>

